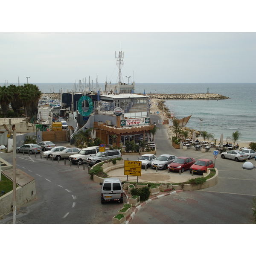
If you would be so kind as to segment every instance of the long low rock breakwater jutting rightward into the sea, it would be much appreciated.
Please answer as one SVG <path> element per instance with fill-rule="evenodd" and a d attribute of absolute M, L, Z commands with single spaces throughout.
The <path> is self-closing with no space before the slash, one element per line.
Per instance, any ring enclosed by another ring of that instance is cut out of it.
<path fill-rule="evenodd" d="M 157 99 L 230 99 L 218 93 L 184 93 L 184 94 L 165 94 L 151 93 L 148 94 Z"/>

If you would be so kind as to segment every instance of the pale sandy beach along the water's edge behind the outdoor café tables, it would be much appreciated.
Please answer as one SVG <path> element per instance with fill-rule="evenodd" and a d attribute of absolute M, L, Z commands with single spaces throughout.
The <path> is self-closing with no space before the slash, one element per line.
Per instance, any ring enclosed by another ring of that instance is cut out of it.
<path fill-rule="evenodd" d="M 160 103 L 162 102 L 163 100 L 161 99 L 154 99 L 154 98 L 151 98 L 151 105 L 152 105 L 152 108 L 151 108 L 151 112 L 154 113 L 154 112 L 159 112 L 159 116 L 160 116 L 160 119 L 170 119 L 170 113 L 169 113 L 169 109 L 168 108 L 164 108 L 164 112 L 163 112 L 163 109 L 162 108 L 159 108 L 158 105 L 156 105 L 156 103 Z M 164 105 L 164 103 L 162 103 Z M 167 130 L 167 133 L 169 134 L 169 139 L 172 140 L 172 136 L 175 136 L 176 134 L 172 131 L 172 126 L 168 125 L 168 124 L 165 124 L 164 125 L 166 127 L 166 130 Z M 183 127 L 183 130 L 186 130 L 186 131 L 189 131 L 189 138 L 192 137 L 192 133 L 193 131 L 196 131 L 196 130 L 193 130 L 193 129 L 190 129 L 189 127 Z M 200 134 L 200 131 L 196 131 L 198 132 L 197 134 Z M 211 131 L 208 131 L 209 133 Z M 200 138 L 197 137 L 198 140 L 203 140 L 203 138 Z M 226 143 L 226 140 L 224 139 L 223 140 L 224 143 Z M 228 140 L 227 142 L 229 143 L 233 143 L 232 140 Z M 220 143 L 220 139 L 217 138 L 217 141 L 216 143 Z M 249 143 L 241 143 L 240 141 L 237 141 L 236 143 L 239 143 L 239 148 L 244 148 L 244 147 L 249 147 Z"/>

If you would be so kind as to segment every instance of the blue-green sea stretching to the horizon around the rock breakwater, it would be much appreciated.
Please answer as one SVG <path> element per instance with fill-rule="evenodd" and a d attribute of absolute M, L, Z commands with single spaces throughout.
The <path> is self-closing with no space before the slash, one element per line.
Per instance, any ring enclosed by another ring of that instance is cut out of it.
<path fill-rule="evenodd" d="M 14 83 L 15 84 L 15 83 Z M 42 93 L 76 90 L 74 83 L 33 83 Z M 3 86 L 0 83 L 0 86 Z M 17 84 L 16 84 L 17 85 Z M 99 83 L 105 88 L 105 83 Z M 256 142 L 256 83 L 135 83 L 134 93 L 218 93 L 230 99 L 166 99 L 165 105 L 177 119 L 191 116 L 186 127 L 213 133 L 224 141 L 239 131 L 238 143 Z M 154 108 L 152 106 L 152 108 Z M 201 119 L 201 121 L 200 121 Z M 231 142 L 231 140 L 228 140 Z"/>

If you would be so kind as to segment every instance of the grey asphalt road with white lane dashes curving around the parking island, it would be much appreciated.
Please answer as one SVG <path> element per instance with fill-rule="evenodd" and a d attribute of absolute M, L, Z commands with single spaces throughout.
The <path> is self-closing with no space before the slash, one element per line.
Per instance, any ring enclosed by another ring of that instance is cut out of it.
<path fill-rule="evenodd" d="M 158 119 L 158 115 L 151 115 L 151 122 Z M 157 127 L 160 128 L 154 136 L 157 156 L 174 154 L 214 160 L 213 152 L 173 148 L 164 125 Z M 12 163 L 12 154 L 2 153 L 1 157 Z M 137 158 L 129 156 L 130 160 Z M 250 161 L 255 165 L 254 160 Z M 256 172 L 242 169 L 242 164 L 218 156 L 215 167 L 219 171 L 219 182 L 216 186 L 157 199 L 137 212 L 130 223 L 252 223 L 251 200 L 256 195 Z M 116 202 L 100 203 L 100 185 L 90 180 L 87 164 L 83 171 L 82 166 L 79 169 L 76 165 L 70 167 L 69 161 L 64 165 L 64 160 L 58 163 L 17 154 L 17 168 L 35 177 L 37 195 L 35 200 L 17 209 L 17 223 L 111 224 L 112 217 L 120 209 Z M 4 216 L 0 223 L 12 223 L 12 213 Z"/>

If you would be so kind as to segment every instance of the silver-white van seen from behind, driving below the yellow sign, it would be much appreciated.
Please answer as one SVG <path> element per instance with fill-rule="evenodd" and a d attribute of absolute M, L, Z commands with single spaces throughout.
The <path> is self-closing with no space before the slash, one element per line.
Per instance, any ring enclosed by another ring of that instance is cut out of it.
<path fill-rule="evenodd" d="M 119 201 L 123 202 L 123 190 L 121 180 L 119 178 L 105 178 L 103 182 L 99 183 L 101 187 L 101 202 L 105 201 Z"/>

